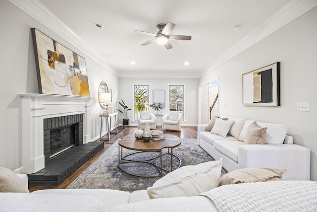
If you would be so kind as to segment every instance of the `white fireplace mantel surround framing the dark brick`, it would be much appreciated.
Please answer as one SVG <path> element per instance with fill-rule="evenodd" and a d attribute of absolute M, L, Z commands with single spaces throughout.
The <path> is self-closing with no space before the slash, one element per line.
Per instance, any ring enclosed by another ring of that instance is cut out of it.
<path fill-rule="evenodd" d="M 92 98 L 50 94 L 19 94 L 22 98 L 22 169 L 35 173 L 45 167 L 44 119 L 84 114 L 83 143 L 90 141 L 89 109 Z"/>

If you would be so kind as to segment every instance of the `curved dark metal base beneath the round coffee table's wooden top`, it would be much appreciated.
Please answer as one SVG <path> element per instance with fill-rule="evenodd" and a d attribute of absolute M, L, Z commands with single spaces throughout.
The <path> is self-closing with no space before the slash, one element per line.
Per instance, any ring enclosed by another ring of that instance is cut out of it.
<path fill-rule="evenodd" d="M 121 147 L 121 154 L 120 154 L 120 147 Z M 130 175 L 133 175 L 133 176 L 137 176 L 137 177 L 161 177 L 162 176 L 162 171 L 166 171 L 166 172 L 173 171 L 173 156 L 175 156 L 178 159 L 178 161 L 179 161 L 179 166 L 176 169 L 178 169 L 182 165 L 181 159 L 177 155 L 173 154 L 173 149 L 171 148 L 171 152 L 170 153 L 169 153 L 169 148 L 167 148 L 167 149 L 168 149 L 167 152 L 163 153 L 163 154 L 162 154 L 162 151 L 156 151 L 156 152 L 159 152 L 159 154 L 157 156 L 155 156 L 154 158 L 150 158 L 150 159 L 147 159 L 147 160 L 132 160 L 132 159 L 126 159 L 126 158 L 131 156 L 131 155 L 142 154 L 142 153 L 145 153 L 145 152 L 152 152 L 152 151 L 133 152 L 133 153 L 127 154 L 126 156 L 123 157 L 123 155 L 122 155 L 122 146 L 119 146 L 119 168 L 123 172 L 125 172 L 127 174 L 130 174 Z M 166 169 L 162 168 L 162 156 L 165 155 L 165 154 L 170 154 L 170 156 L 171 156 L 171 159 L 170 159 L 171 160 L 171 162 L 170 162 L 170 170 L 166 170 Z M 157 164 L 155 162 L 157 158 L 159 158 L 159 163 L 160 164 Z M 124 164 L 124 163 L 148 163 L 148 164 L 151 164 L 154 167 L 156 167 L 159 170 L 159 174 L 158 175 L 151 175 L 151 176 L 133 174 L 133 173 L 125 170 L 123 167 L 121 167 L 121 164 Z"/>

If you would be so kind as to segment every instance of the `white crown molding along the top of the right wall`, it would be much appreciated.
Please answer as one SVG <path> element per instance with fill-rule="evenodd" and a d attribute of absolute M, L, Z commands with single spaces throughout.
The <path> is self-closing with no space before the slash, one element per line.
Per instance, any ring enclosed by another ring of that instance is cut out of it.
<path fill-rule="evenodd" d="M 248 35 L 230 47 L 227 51 L 217 57 L 210 65 L 199 71 L 198 77 L 202 77 L 221 64 L 230 60 L 234 56 L 243 52 L 250 46 L 264 39 L 264 37 L 273 33 L 277 29 L 291 22 L 298 16 L 304 14 L 317 5 L 317 0 L 292 0 L 271 17 L 266 19 L 261 25 L 251 31 Z"/>

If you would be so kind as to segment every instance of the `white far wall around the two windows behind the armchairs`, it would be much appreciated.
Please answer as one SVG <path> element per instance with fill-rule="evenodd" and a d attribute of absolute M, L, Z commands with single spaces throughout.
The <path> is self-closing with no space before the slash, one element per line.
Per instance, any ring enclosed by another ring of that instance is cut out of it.
<path fill-rule="evenodd" d="M 168 100 L 168 84 L 178 83 L 185 84 L 185 120 L 182 122 L 182 126 L 197 126 L 197 102 L 198 102 L 198 79 L 188 78 L 119 78 L 119 95 L 118 99 L 122 99 L 129 108 L 133 106 L 133 84 L 144 83 L 150 84 L 150 94 L 153 95 L 153 90 L 165 90 L 165 108 L 160 112 L 167 113 L 167 100 Z M 152 97 L 150 104 L 153 103 Z M 118 107 L 117 107 L 118 108 Z M 155 111 L 152 110 L 152 113 Z M 137 123 L 131 123 L 132 112 L 128 112 L 130 119 L 130 125 L 137 125 Z M 122 123 L 122 115 L 119 113 L 119 123 Z"/>

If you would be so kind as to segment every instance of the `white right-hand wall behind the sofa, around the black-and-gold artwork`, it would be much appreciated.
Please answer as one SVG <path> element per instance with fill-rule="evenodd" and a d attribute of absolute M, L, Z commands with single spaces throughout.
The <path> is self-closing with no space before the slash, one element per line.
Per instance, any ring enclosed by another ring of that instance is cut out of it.
<path fill-rule="evenodd" d="M 242 105 L 242 74 L 280 62 L 280 107 Z M 283 123 L 294 142 L 311 149 L 311 180 L 317 180 L 317 7 L 200 78 L 219 76 L 220 116 Z M 309 102 L 310 112 L 297 111 Z M 222 107 L 226 103 L 226 107 Z"/>

